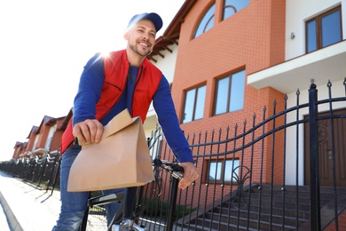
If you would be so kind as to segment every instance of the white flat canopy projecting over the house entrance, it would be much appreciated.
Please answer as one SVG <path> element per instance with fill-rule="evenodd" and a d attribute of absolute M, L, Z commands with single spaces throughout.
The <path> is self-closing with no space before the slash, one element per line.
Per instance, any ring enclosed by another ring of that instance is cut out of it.
<path fill-rule="evenodd" d="M 272 87 L 279 92 L 295 92 L 297 86 L 336 82 L 346 76 L 346 40 L 248 76 L 248 84 L 261 89 Z"/>

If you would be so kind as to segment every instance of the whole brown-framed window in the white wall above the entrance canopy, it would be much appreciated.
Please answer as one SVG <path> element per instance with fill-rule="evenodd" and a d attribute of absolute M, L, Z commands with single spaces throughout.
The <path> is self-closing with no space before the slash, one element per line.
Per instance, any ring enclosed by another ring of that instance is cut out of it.
<path fill-rule="evenodd" d="M 306 21 L 306 52 L 313 52 L 342 40 L 341 8 Z"/>

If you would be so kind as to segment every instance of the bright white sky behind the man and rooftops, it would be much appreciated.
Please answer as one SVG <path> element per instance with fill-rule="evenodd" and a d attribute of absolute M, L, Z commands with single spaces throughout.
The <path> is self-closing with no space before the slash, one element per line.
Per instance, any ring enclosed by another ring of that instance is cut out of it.
<path fill-rule="evenodd" d="M 43 116 L 67 116 L 85 63 L 124 49 L 130 18 L 157 12 L 161 36 L 185 0 L 12 0 L 0 2 L 0 161 L 28 142 Z"/>

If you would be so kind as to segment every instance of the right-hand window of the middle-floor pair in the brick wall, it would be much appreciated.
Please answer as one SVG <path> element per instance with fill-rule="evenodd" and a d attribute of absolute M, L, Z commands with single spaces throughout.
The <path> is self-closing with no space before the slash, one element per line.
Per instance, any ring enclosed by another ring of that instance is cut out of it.
<path fill-rule="evenodd" d="M 214 115 L 240 110 L 244 104 L 245 70 L 219 79 L 216 83 Z"/>

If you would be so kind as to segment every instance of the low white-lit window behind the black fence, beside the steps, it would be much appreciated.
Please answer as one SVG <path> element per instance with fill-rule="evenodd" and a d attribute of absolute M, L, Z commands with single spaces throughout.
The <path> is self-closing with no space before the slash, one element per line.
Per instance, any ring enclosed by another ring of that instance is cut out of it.
<path fill-rule="evenodd" d="M 231 182 L 238 175 L 239 160 L 211 161 L 208 166 L 208 181 Z M 233 172 L 233 170 L 235 170 Z"/>

